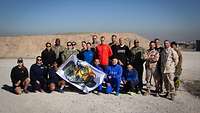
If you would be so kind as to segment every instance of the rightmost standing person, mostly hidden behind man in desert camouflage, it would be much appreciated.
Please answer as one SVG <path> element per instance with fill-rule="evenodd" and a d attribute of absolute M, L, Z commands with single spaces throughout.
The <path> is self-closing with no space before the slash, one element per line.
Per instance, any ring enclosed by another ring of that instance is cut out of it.
<path fill-rule="evenodd" d="M 177 52 L 178 54 L 178 64 L 176 65 L 175 69 L 175 78 L 174 78 L 174 86 L 175 90 L 177 91 L 180 86 L 180 75 L 182 73 L 182 62 L 183 62 L 183 56 L 181 51 L 177 47 L 176 42 L 171 43 L 171 47 Z"/>

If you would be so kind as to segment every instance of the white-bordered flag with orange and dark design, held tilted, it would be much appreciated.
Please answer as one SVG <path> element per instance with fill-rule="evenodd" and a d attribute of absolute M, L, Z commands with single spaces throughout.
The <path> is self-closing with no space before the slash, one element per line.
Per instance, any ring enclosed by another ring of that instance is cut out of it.
<path fill-rule="evenodd" d="M 85 93 L 96 89 L 102 84 L 105 73 L 86 61 L 71 55 L 56 72 L 61 78 Z"/>

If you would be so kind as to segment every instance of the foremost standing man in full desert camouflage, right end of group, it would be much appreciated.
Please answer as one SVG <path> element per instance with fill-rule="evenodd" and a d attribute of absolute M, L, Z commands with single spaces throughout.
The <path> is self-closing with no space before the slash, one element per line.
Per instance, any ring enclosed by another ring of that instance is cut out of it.
<path fill-rule="evenodd" d="M 167 91 L 166 97 L 171 100 L 174 100 L 175 98 L 174 73 L 177 64 L 177 52 L 170 47 L 170 42 L 165 40 L 164 50 L 161 53 L 161 72 L 163 74 L 164 84 Z"/>

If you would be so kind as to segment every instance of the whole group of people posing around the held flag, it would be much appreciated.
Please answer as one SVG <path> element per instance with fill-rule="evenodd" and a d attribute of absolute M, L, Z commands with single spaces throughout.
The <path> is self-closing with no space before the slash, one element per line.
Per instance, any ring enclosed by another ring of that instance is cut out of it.
<path fill-rule="evenodd" d="M 130 95 L 133 93 L 150 95 L 153 78 L 156 96 L 165 89 L 166 97 L 174 100 L 182 72 L 182 55 L 176 42 L 170 43 L 165 40 L 162 47 L 160 40 L 155 39 L 150 41 L 149 49 L 145 50 L 137 39 L 134 40 L 132 48 L 125 44 L 123 38 L 118 39 L 117 35 L 112 35 L 111 40 L 111 43 L 106 44 L 104 36 L 99 38 L 93 35 L 91 43 L 81 42 L 80 50 L 74 41 L 68 41 L 66 47 L 60 44 L 58 38 L 53 46 L 47 42 L 45 50 L 41 56 L 36 57 L 36 63 L 31 66 L 30 76 L 23 59 L 18 58 L 18 65 L 11 71 L 15 93 L 21 94 L 22 91 L 28 93 L 29 84 L 33 91 L 58 90 L 63 93 L 66 82 L 56 74 L 56 71 L 72 54 L 75 54 L 80 60 L 88 62 L 107 75 L 96 89 L 98 94 L 105 88 L 105 93 L 115 92 L 117 96 L 120 92 Z M 143 67 L 146 69 L 146 90 L 143 87 Z"/>

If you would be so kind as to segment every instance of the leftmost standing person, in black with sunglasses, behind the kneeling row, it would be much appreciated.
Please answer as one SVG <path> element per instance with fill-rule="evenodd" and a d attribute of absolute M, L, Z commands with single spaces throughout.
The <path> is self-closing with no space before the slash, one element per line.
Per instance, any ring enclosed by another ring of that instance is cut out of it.
<path fill-rule="evenodd" d="M 46 43 L 46 49 L 41 53 L 42 62 L 46 67 L 51 67 L 56 61 L 56 53 L 52 50 L 51 43 Z"/>

